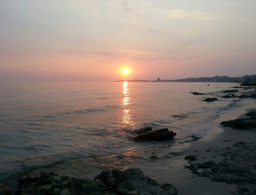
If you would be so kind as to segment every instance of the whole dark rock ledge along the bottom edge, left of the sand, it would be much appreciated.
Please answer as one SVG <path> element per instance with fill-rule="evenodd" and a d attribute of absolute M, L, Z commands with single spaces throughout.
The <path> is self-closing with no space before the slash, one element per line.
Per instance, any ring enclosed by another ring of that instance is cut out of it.
<path fill-rule="evenodd" d="M 0 185 L 1 195 L 11 195 L 6 186 Z M 15 195 L 176 195 L 171 184 L 161 185 L 145 176 L 138 168 L 125 171 L 102 171 L 94 180 L 40 173 L 18 179 Z"/>

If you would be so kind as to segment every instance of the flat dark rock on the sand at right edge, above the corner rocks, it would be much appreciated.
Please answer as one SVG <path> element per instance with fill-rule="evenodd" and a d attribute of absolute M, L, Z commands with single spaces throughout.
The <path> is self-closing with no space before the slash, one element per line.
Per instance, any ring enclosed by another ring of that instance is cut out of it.
<path fill-rule="evenodd" d="M 239 118 L 221 123 L 224 127 L 231 127 L 236 130 L 250 130 L 256 128 L 256 118 Z"/>

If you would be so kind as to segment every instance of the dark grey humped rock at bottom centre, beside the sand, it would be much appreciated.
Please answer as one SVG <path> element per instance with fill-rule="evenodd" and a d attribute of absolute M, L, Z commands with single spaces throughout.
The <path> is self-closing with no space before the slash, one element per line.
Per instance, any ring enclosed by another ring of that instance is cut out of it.
<path fill-rule="evenodd" d="M 113 188 L 120 195 L 176 195 L 177 190 L 171 184 L 160 185 L 155 180 L 143 175 L 140 169 L 125 171 L 103 171 L 95 178 Z"/>

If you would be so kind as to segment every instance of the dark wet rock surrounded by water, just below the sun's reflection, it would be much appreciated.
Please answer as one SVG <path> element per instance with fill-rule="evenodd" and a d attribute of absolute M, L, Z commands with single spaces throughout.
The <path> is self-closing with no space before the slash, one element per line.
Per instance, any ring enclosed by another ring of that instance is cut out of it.
<path fill-rule="evenodd" d="M 176 133 L 173 131 L 169 131 L 168 128 L 164 128 L 161 130 L 150 130 L 146 133 L 142 133 L 135 137 L 135 140 L 155 140 L 162 141 L 166 139 L 172 139 L 176 136 Z"/>

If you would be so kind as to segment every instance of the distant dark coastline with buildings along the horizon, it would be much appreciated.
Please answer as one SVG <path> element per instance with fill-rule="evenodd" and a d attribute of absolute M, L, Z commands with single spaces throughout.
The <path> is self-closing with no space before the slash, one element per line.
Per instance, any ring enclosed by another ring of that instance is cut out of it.
<path fill-rule="evenodd" d="M 215 77 L 198 77 L 198 78 L 182 78 L 182 79 L 173 79 L 173 80 L 162 80 L 157 78 L 156 80 L 117 80 L 115 82 L 222 82 L 222 83 L 247 83 L 247 84 L 256 84 L 256 74 L 255 75 L 245 75 L 243 77 L 228 77 L 228 76 L 215 76 Z"/>

